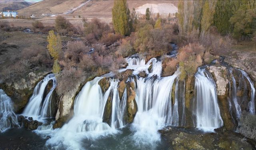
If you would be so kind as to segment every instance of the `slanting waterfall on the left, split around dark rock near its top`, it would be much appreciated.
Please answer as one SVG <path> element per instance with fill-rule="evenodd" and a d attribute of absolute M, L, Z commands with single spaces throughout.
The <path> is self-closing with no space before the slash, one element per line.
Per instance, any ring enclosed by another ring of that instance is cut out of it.
<path fill-rule="evenodd" d="M 45 96 L 46 86 L 52 80 L 52 87 L 48 94 Z M 36 84 L 33 95 L 31 96 L 22 115 L 30 116 L 34 119 L 51 117 L 52 92 L 56 88 L 56 78 L 54 74 L 48 74 L 43 80 Z"/>

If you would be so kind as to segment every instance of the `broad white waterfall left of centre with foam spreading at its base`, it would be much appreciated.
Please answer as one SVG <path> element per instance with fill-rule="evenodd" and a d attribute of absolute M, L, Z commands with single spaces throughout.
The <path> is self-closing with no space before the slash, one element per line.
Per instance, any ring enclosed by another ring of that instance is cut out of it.
<path fill-rule="evenodd" d="M 116 120 L 111 121 L 113 128 L 102 122 L 106 101 L 116 82 L 113 81 L 104 94 L 98 84 L 101 79 L 96 77 L 83 86 L 74 102 L 74 116 L 62 128 L 54 130 L 52 137 L 46 142 L 48 146 L 57 149 L 83 149 L 81 147 L 83 139 L 95 139 L 116 133 L 113 129 Z M 114 116 L 114 118 L 118 117 Z"/>

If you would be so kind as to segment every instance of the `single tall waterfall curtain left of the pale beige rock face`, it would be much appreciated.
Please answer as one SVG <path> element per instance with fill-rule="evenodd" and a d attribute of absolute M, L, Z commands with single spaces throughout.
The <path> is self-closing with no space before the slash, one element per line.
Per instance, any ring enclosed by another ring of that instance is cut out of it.
<path fill-rule="evenodd" d="M 216 85 L 205 68 L 198 68 L 195 75 L 195 91 L 193 115 L 196 118 L 194 121 L 196 127 L 207 132 L 223 126 Z"/>

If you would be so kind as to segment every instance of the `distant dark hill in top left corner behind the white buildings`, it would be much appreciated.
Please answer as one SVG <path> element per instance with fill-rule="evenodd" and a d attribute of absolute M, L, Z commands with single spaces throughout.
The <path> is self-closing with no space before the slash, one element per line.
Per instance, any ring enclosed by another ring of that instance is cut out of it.
<path fill-rule="evenodd" d="M 24 0 L 1 0 L 0 11 L 20 10 L 30 6 L 31 4 L 32 3 L 26 2 Z"/>

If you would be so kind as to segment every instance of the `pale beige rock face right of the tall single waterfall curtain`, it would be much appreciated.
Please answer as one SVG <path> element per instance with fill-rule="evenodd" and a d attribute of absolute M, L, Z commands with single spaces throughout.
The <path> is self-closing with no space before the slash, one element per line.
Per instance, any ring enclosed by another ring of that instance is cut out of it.
<path fill-rule="evenodd" d="M 224 66 L 210 66 L 209 72 L 213 74 L 217 85 L 217 94 L 224 96 L 228 90 L 227 68 Z"/>

